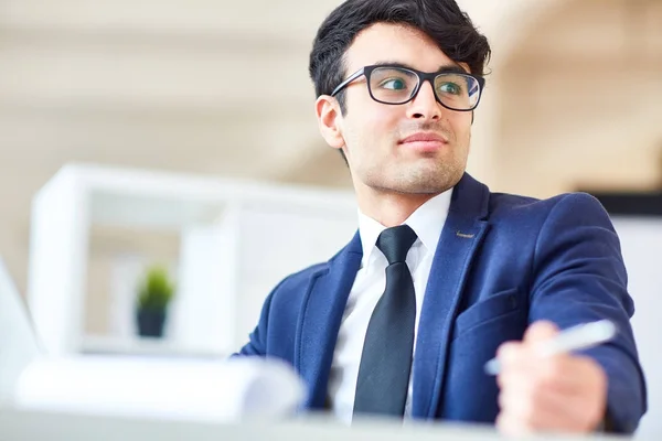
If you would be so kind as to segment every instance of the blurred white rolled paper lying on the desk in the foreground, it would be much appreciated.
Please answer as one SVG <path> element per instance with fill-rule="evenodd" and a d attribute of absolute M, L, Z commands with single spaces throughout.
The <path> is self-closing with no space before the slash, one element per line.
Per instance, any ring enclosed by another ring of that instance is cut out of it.
<path fill-rule="evenodd" d="M 291 415 L 302 380 L 278 361 L 227 362 L 81 356 L 30 364 L 19 409 L 231 422 Z"/>

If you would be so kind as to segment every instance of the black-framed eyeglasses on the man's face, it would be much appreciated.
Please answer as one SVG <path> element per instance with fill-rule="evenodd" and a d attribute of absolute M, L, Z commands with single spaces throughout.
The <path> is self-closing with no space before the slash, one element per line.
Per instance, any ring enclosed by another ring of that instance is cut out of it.
<path fill-rule="evenodd" d="M 399 105 L 414 98 L 420 85 L 429 80 L 437 101 L 450 110 L 469 111 L 478 107 L 485 80 L 469 74 L 441 71 L 425 73 L 397 65 L 365 66 L 348 77 L 331 93 L 338 95 L 354 79 L 365 76 L 372 99 L 382 104 Z"/>

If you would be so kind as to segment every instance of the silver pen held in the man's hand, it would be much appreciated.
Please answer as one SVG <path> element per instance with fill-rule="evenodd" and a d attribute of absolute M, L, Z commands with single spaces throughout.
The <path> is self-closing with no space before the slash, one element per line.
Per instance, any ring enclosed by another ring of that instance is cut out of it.
<path fill-rule="evenodd" d="M 616 325 L 609 320 L 579 324 L 562 331 L 554 338 L 542 343 L 540 352 L 542 356 L 553 356 L 588 349 L 613 338 L 616 332 Z M 485 363 L 484 369 L 488 375 L 498 375 L 500 370 L 499 359 L 490 359 Z"/>

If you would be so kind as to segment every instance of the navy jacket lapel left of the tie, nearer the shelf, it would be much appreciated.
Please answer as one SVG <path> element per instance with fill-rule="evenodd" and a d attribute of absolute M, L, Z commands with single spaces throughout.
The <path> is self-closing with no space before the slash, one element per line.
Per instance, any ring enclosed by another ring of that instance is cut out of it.
<path fill-rule="evenodd" d="M 329 372 L 348 297 L 361 265 L 359 233 L 312 276 L 297 325 L 295 367 L 309 387 L 305 408 L 321 409 L 327 399 Z"/>

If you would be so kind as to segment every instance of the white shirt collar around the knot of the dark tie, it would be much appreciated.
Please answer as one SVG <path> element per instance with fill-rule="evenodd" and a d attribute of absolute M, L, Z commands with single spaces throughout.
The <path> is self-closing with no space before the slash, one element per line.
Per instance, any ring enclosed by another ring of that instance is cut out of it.
<path fill-rule="evenodd" d="M 441 229 L 444 229 L 444 224 L 448 217 L 451 195 L 452 189 L 436 195 L 419 206 L 403 223 L 412 227 L 414 233 L 416 233 L 426 252 L 434 254 L 437 251 L 439 236 L 441 236 Z M 371 256 L 376 248 L 377 237 L 384 229 L 386 229 L 384 225 L 366 216 L 359 209 L 359 234 L 361 236 L 361 246 L 363 247 L 362 268 L 369 265 Z"/>

